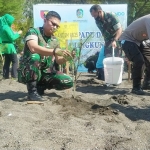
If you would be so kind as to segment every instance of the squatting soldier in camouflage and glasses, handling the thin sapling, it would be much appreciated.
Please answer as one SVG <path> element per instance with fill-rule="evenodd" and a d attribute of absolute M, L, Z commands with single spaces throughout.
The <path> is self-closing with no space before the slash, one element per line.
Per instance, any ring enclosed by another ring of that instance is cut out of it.
<path fill-rule="evenodd" d="M 40 28 L 30 28 L 25 36 L 25 47 L 18 68 L 18 81 L 27 84 L 29 100 L 43 100 L 45 89 L 63 90 L 73 86 L 72 78 L 53 69 L 53 62 L 63 64 L 71 58 L 70 52 L 61 50 L 53 36 L 61 17 L 49 11 Z"/>

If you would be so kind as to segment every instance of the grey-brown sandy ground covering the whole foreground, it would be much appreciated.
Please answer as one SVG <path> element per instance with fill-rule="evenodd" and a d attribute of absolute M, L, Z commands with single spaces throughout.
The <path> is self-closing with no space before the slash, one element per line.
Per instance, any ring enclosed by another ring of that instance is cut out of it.
<path fill-rule="evenodd" d="M 0 150 L 148 150 L 150 91 L 130 93 L 124 74 L 105 87 L 82 74 L 72 90 L 47 90 L 43 104 L 28 104 L 26 86 L 0 81 Z"/>

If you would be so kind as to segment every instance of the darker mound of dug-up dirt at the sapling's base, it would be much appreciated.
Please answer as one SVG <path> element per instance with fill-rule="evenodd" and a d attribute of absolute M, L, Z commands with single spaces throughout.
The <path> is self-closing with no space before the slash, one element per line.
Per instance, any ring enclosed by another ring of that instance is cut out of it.
<path fill-rule="evenodd" d="M 80 97 L 77 98 L 59 98 L 54 101 L 54 104 L 61 105 L 61 112 L 65 116 L 76 116 L 94 114 L 98 113 L 99 115 L 117 115 L 119 112 L 111 108 L 110 106 L 100 106 L 92 102 L 87 102 Z M 66 115 L 67 114 L 67 115 Z"/>

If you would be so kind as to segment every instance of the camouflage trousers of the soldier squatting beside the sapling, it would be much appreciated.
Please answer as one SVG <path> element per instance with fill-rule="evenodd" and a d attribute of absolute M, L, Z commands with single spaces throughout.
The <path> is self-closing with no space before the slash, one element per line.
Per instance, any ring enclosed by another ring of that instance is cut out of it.
<path fill-rule="evenodd" d="M 59 71 L 52 71 L 50 67 L 46 69 L 48 66 L 42 62 L 38 54 L 32 54 L 26 60 L 22 59 L 18 68 L 18 82 L 26 84 L 37 81 L 38 86 L 56 90 L 68 89 L 73 86 L 70 76 Z"/>

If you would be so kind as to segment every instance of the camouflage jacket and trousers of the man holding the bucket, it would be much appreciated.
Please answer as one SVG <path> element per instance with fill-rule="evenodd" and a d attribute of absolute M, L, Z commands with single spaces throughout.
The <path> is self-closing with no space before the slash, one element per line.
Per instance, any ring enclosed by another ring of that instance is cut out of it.
<path fill-rule="evenodd" d="M 112 55 L 111 43 L 114 40 L 116 31 L 121 27 L 119 19 L 116 17 L 114 13 L 104 12 L 104 19 L 103 20 L 96 19 L 96 25 L 100 29 L 104 37 L 105 41 L 104 54 L 105 56 L 111 56 Z M 119 44 L 119 41 L 116 41 L 116 43 L 117 47 L 115 48 L 115 55 L 120 56 L 121 46 Z"/>

